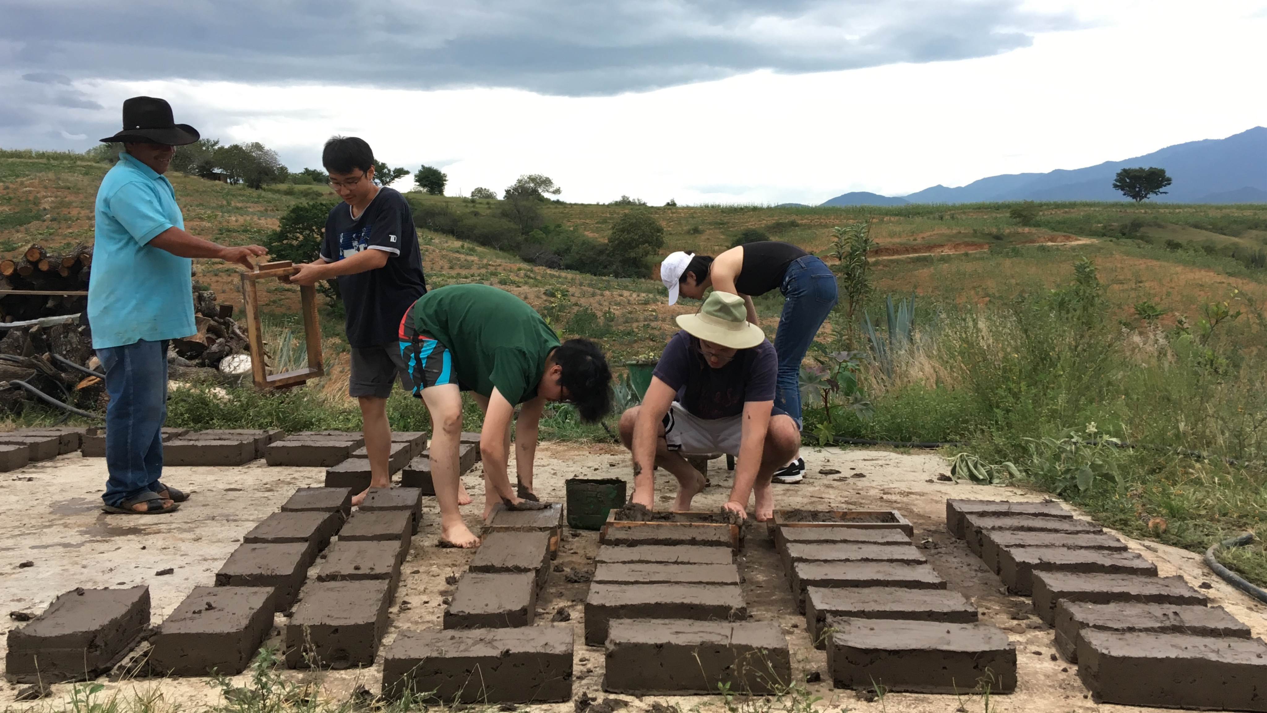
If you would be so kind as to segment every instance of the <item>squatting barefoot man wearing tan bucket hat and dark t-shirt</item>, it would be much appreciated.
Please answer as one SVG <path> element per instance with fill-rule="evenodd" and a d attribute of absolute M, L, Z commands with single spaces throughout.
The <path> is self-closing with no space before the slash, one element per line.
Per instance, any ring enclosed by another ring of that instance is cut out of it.
<path fill-rule="evenodd" d="M 634 454 L 632 502 L 655 504 L 655 468 L 678 478 L 674 510 L 689 510 L 704 476 L 683 454 L 737 458 L 725 509 L 774 516 L 770 478 L 801 445 L 796 422 L 774 407 L 778 358 L 760 327 L 748 321 L 744 298 L 713 292 L 694 315 L 679 315 L 682 331 L 664 348 L 651 386 L 621 415 L 621 442 Z"/>

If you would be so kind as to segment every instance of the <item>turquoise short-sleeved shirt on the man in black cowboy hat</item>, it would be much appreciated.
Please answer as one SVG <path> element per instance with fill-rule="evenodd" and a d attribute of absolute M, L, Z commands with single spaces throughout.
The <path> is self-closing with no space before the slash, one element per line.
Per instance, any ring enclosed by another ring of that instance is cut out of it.
<path fill-rule="evenodd" d="M 150 245 L 171 227 L 185 227 L 171 181 L 119 154 L 119 162 L 96 190 L 96 244 L 87 285 L 94 349 L 198 331 L 193 260 Z"/>

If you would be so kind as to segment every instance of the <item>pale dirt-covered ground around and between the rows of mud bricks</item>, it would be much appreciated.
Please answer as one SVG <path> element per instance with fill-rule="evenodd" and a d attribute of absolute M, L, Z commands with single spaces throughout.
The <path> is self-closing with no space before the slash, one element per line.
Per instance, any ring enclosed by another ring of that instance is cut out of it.
<path fill-rule="evenodd" d="M 537 492 L 551 500 L 564 496 L 564 481 L 576 476 L 628 477 L 627 457 L 608 445 L 575 447 L 542 444 L 538 450 Z M 1029 614 L 1029 600 L 1006 596 L 1001 585 L 984 566 L 958 540 L 945 532 L 946 497 L 1038 499 L 1035 494 L 1016 487 L 955 485 L 936 481 L 945 472 L 945 463 L 934 454 L 898 454 L 883 450 L 807 449 L 810 476 L 799 486 L 779 486 L 779 506 L 849 509 L 897 509 L 916 527 L 915 540 L 926 548 L 933 567 L 946 579 L 950 589 L 971 598 L 981 609 L 982 620 L 1009 629 L 1017 646 L 1020 685 L 1012 695 L 992 698 L 991 710 L 1052 712 L 1069 710 L 1144 710 L 1114 705 L 1096 705 L 1085 698 L 1086 690 L 1077 679 L 1077 670 L 1063 661 L 1052 661 L 1052 631 Z M 713 487 L 702 494 L 698 509 L 713 510 L 725 501 L 730 473 L 713 461 L 710 477 Z M 821 468 L 843 471 L 836 476 L 817 474 Z M 321 468 L 269 468 L 256 462 L 239 468 L 170 468 L 165 481 L 177 487 L 189 486 L 194 492 L 180 513 L 143 518 L 104 515 L 98 510 L 99 492 L 105 478 L 103 459 L 84 459 L 77 454 L 38 463 L 14 473 L 0 476 L 0 610 L 38 613 L 58 594 L 76 586 L 122 586 L 148 584 L 153 599 L 153 622 L 158 623 L 195 585 L 213 584 L 220 563 L 237 547 L 239 538 L 276 510 L 295 487 L 321 485 Z M 481 501 L 479 469 L 466 477 L 468 487 Z M 658 500 L 672 497 L 668 477 L 659 473 Z M 426 501 L 426 521 L 414 539 L 405 576 L 395 605 L 392 627 L 384 639 L 389 643 L 402 628 L 438 627 L 443 598 L 452 586 L 447 575 L 459 575 L 470 553 L 436 547 L 438 513 L 433 500 Z M 474 527 L 478 505 L 465 509 Z M 826 680 L 825 655 L 811 647 L 805 633 L 803 618 L 796 614 L 787 580 L 773 544 L 763 537 L 764 528 L 754 530 L 741 557 L 746 577 L 745 594 L 753 617 L 777 619 L 792 644 L 793 671 L 803 676 L 810 671 L 824 674 L 824 683 L 810 684 L 821 695 L 820 709 L 875 712 L 955 710 L 960 702 L 954 697 L 889 694 L 883 702 L 867 703 L 853 691 L 834 690 Z M 1131 548 L 1157 562 L 1162 575 L 1181 573 L 1192 585 L 1210 582 L 1207 590 L 1214 604 L 1221 604 L 1253 628 L 1256 636 L 1267 637 L 1267 606 L 1259 605 L 1226 586 L 1204 570 L 1196 554 L 1175 548 L 1131 543 Z M 566 532 L 550 584 L 538 601 L 538 614 L 549 617 L 566 608 L 576 632 L 575 695 L 588 693 L 602 698 L 603 651 L 585 647 L 582 632 L 582 604 L 587 584 L 568 584 L 569 570 L 589 571 L 598 551 L 597 533 Z M 34 562 L 19 568 L 24 561 Z M 166 567 L 170 576 L 156 576 Z M 284 619 L 277 618 L 280 624 Z M 11 623 L 10 627 L 16 624 Z M 276 633 L 271 639 L 280 643 Z M 1035 655 L 1036 652 L 1038 655 Z M 1067 670 L 1066 670 L 1067 669 Z M 327 695 L 345 699 L 359 685 L 372 691 L 380 686 L 381 666 L 362 671 L 329 671 L 319 674 L 288 672 L 295 680 L 321 680 Z M 236 685 L 245 685 L 239 676 Z M 8 686 L 6 705 L 18 686 Z M 66 699 L 70 685 L 54 686 L 54 694 Z M 163 703 L 186 709 L 218 700 L 219 693 L 207 686 L 205 679 L 138 680 L 109 683 L 99 695 L 133 691 L 160 691 Z M 628 698 L 628 697 L 622 697 Z M 680 705 L 688 710 L 697 704 L 723 712 L 717 697 L 655 698 L 632 702 L 635 713 L 650 707 L 653 700 Z M 13 704 L 44 708 L 58 703 L 35 702 Z M 979 697 L 965 695 L 965 710 L 981 710 Z M 533 709 L 565 713 L 571 704 L 541 705 Z"/>

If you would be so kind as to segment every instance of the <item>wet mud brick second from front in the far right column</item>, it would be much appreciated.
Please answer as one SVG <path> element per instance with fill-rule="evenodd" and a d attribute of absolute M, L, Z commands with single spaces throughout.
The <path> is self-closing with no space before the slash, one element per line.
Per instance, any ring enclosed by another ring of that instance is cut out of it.
<path fill-rule="evenodd" d="M 1055 650 L 1069 664 L 1078 662 L 1083 631 L 1251 637 L 1249 627 L 1228 614 L 1223 606 L 1167 606 L 1130 601 L 1087 604 L 1068 600 L 1055 605 Z"/>

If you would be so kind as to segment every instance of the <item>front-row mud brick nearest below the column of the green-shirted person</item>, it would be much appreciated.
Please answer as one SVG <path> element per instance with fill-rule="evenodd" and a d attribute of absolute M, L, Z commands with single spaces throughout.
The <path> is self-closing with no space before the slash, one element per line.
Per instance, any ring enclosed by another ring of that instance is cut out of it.
<path fill-rule="evenodd" d="M 432 691 L 436 703 L 571 699 L 569 624 L 522 629 L 403 631 L 383 652 L 383 695 Z"/>

